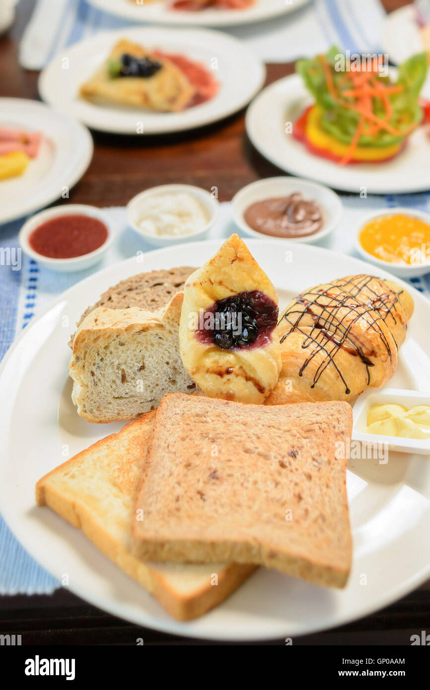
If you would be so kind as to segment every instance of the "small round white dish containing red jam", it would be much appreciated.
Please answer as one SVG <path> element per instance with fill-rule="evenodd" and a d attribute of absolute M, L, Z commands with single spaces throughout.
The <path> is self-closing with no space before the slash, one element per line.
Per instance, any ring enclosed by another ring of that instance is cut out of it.
<path fill-rule="evenodd" d="M 46 221 L 51 220 L 52 218 L 58 218 L 65 215 L 86 215 L 92 218 L 97 218 L 106 225 L 106 228 L 108 228 L 108 237 L 106 238 L 105 242 L 93 252 L 83 254 L 79 257 L 72 257 L 70 259 L 52 259 L 36 252 L 30 246 L 29 242 L 29 237 L 33 230 L 36 230 L 36 228 L 39 228 L 39 226 L 41 226 L 43 223 L 46 223 Z M 18 239 L 23 252 L 32 259 L 35 259 L 35 261 L 42 266 L 52 268 L 52 270 L 59 270 L 61 273 L 70 273 L 75 270 L 84 270 L 84 268 L 89 268 L 90 266 L 97 264 L 106 250 L 113 243 L 115 233 L 113 231 L 113 226 L 110 219 L 100 208 L 97 208 L 96 206 L 87 206 L 86 204 L 65 204 L 64 206 L 54 206 L 53 208 L 48 208 L 29 218 L 19 231 Z"/>

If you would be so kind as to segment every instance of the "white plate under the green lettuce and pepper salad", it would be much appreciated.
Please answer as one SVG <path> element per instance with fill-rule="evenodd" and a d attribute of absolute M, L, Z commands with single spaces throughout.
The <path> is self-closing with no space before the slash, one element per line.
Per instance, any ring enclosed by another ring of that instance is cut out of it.
<path fill-rule="evenodd" d="M 404 151 L 385 163 L 339 166 L 311 154 L 302 142 L 286 134 L 313 99 L 300 75 L 291 75 L 265 88 L 246 112 L 246 131 L 255 148 L 275 166 L 297 177 L 309 177 L 334 189 L 369 194 L 402 194 L 430 189 L 430 139 L 419 127 Z"/>

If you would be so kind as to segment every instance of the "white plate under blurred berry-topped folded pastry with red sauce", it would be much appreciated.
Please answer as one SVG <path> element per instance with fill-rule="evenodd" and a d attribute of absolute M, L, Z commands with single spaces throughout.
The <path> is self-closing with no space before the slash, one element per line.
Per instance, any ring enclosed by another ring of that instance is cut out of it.
<path fill-rule="evenodd" d="M 182 53 L 214 69 L 220 83 L 217 95 L 182 112 L 153 112 L 138 108 L 96 106 L 81 99 L 79 86 L 94 74 L 121 38 L 148 48 Z M 63 60 L 68 58 L 68 69 Z M 41 72 L 39 92 L 44 101 L 73 115 L 88 127 L 117 134 L 165 134 L 201 127 L 244 108 L 262 88 L 263 63 L 238 39 L 208 29 L 135 27 L 103 32 L 63 50 Z"/>

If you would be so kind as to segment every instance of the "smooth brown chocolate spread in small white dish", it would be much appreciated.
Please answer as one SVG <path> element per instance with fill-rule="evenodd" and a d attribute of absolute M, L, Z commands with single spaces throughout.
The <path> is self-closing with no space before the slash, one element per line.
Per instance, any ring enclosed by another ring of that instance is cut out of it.
<path fill-rule="evenodd" d="M 250 228 L 272 237 L 307 237 L 321 230 L 322 210 L 298 192 L 288 197 L 256 201 L 248 206 L 244 219 Z"/>

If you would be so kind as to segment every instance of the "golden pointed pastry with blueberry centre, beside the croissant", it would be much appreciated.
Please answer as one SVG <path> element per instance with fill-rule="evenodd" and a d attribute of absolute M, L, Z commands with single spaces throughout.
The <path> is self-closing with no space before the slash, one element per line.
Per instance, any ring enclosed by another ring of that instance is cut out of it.
<path fill-rule="evenodd" d="M 238 235 L 184 286 L 179 346 L 184 367 L 209 397 L 262 403 L 281 368 L 277 294 Z"/>

